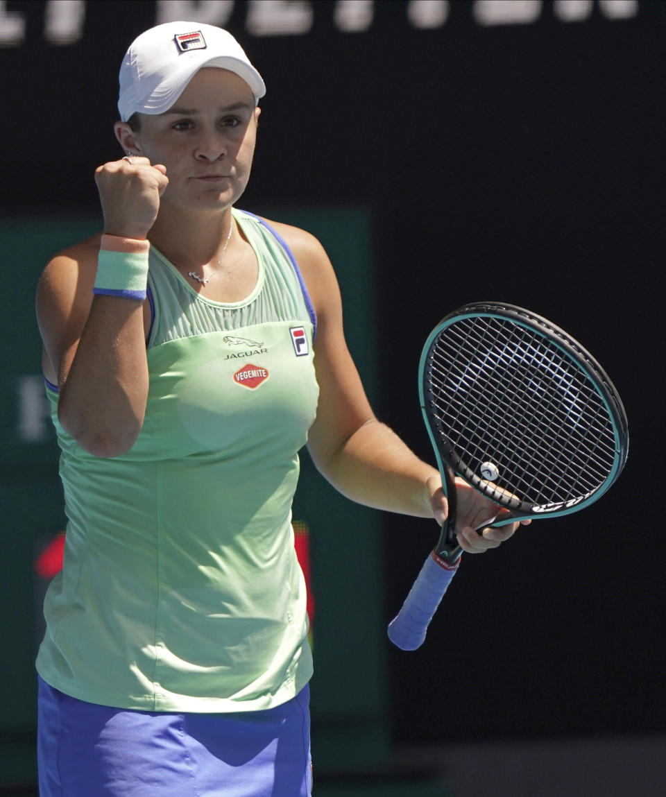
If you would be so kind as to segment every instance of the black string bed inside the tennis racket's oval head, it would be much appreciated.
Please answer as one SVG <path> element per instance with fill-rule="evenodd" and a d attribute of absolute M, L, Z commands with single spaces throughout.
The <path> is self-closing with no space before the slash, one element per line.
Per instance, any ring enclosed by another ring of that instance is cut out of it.
<path fill-rule="evenodd" d="M 432 349 L 429 389 L 460 471 L 483 481 L 481 463 L 499 470 L 489 494 L 496 485 L 535 505 L 573 501 L 613 468 L 613 423 L 594 383 L 527 328 L 492 317 L 446 328 Z"/>

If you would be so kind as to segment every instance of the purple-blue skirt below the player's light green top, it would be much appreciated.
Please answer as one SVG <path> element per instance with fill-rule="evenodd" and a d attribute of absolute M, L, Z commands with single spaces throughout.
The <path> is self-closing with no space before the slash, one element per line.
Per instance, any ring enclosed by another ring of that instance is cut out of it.
<path fill-rule="evenodd" d="M 39 679 L 40 797 L 309 797 L 309 690 L 233 714 L 112 709 Z"/>

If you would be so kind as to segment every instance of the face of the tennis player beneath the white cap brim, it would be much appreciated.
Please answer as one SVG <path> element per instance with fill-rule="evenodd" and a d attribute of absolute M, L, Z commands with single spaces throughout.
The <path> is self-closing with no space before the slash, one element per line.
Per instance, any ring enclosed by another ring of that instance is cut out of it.
<path fill-rule="evenodd" d="M 207 67 L 168 111 L 141 114 L 135 147 L 166 167 L 169 185 L 162 204 L 192 210 L 233 205 L 249 180 L 259 112 L 245 80 Z M 127 139 L 121 143 L 130 147 Z"/>

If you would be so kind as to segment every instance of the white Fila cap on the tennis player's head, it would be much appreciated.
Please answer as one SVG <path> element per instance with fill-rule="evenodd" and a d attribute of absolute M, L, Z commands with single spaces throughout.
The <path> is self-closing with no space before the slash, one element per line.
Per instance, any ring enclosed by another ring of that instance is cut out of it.
<path fill-rule="evenodd" d="M 264 80 L 231 33 L 202 22 L 166 22 L 141 33 L 120 66 L 120 119 L 135 113 L 168 111 L 194 73 L 204 66 L 229 69 L 245 80 L 255 103 L 266 93 Z"/>

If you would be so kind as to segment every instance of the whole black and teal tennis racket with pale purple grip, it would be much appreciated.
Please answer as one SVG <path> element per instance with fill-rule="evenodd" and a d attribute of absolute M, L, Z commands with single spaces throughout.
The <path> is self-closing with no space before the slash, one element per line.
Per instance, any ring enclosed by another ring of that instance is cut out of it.
<path fill-rule="evenodd" d="M 504 508 L 494 526 L 589 506 L 620 475 L 624 407 L 597 361 L 562 329 L 511 304 L 468 304 L 433 329 L 419 365 L 421 410 L 449 516 L 389 638 L 416 650 L 456 573 L 460 476 Z"/>

